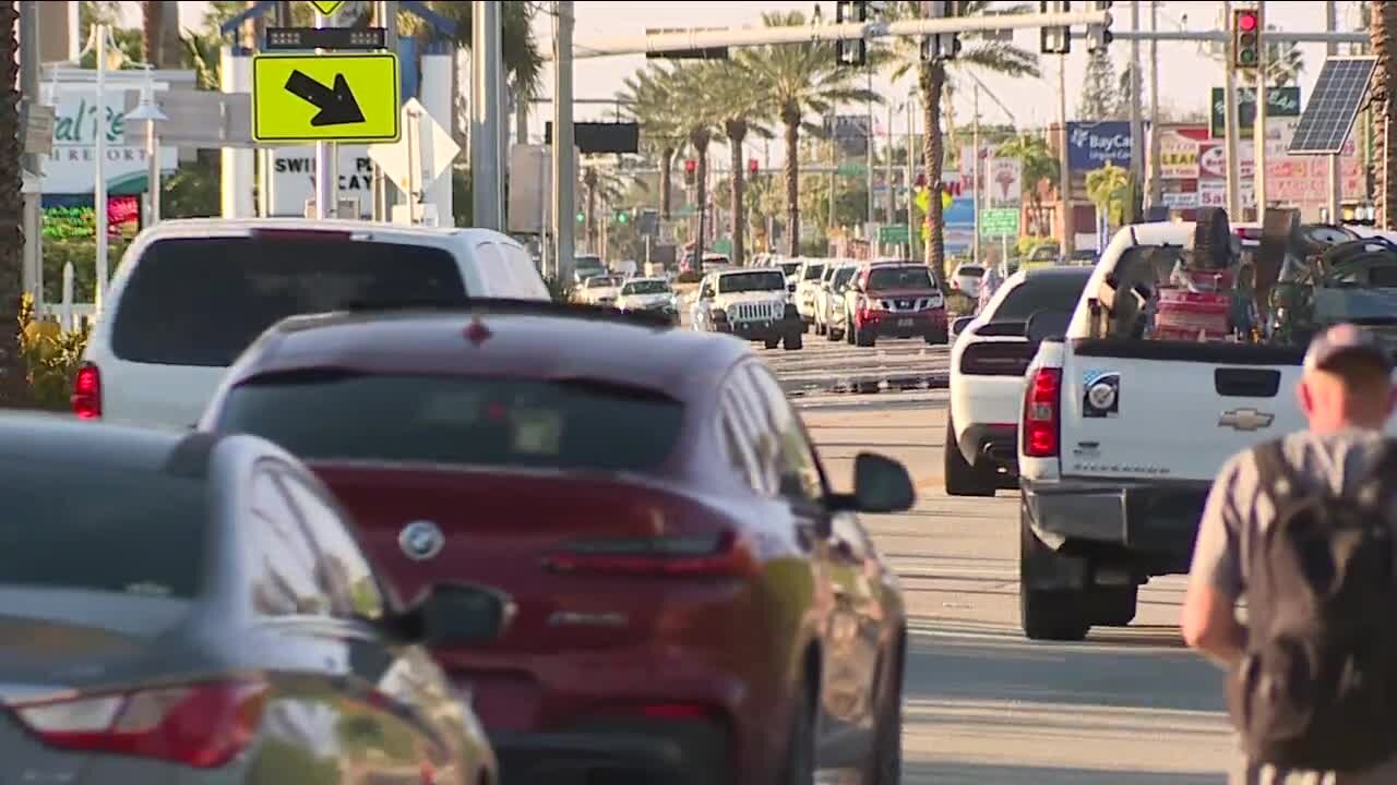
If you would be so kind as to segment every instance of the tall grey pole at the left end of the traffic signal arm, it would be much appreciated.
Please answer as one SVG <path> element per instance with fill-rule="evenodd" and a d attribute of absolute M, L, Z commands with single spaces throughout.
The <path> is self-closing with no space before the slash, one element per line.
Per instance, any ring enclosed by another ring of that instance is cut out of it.
<path fill-rule="evenodd" d="M 573 230 L 577 226 L 577 161 L 573 158 L 573 25 L 574 0 L 553 3 L 553 258 L 557 281 L 571 285 Z"/>

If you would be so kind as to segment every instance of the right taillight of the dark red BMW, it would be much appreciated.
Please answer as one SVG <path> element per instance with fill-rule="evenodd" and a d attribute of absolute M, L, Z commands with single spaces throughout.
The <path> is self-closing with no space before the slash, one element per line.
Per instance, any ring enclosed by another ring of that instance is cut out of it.
<path fill-rule="evenodd" d="M 545 556 L 543 566 L 557 573 L 676 578 L 750 575 L 756 570 L 746 543 L 732 531 L 718 535 L 577 541 Z"/>

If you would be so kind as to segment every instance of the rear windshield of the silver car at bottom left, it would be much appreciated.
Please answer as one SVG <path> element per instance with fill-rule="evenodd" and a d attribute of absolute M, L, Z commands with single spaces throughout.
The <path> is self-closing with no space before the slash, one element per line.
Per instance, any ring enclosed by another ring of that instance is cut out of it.
<path fill-rule="evenodd" d="M 201 480 L 6 461 L 0 494 L 0 584 L 198 594 L 210 528 Z"/>

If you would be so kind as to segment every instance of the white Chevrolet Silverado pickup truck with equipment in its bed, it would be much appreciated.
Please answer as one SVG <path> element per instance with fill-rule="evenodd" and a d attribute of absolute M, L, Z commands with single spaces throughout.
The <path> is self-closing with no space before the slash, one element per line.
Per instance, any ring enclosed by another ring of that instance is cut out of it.
<path fill-rule="evenodd" d="M 1158 339 L 1141 328 L 1168 278 L 1168 254 L 1155 249 L 1190 260 L 1193 246 L 1193 223 L 1126 226 L 1070 321 L 1028 328 L 1042 338 L 1018 423 L 1030 638 L 1129 624 L 1140 585 L 1187 571 L 1222 464 L 1305 426 L 1295 397 L 1305 346 Z"/>

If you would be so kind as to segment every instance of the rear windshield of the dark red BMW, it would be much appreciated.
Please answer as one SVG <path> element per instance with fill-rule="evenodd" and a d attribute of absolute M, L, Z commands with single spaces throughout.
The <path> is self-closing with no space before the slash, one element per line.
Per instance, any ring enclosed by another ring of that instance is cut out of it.
<path fill-rule="evenodd" d="M 650 472 L 682 418 L 664 394 L 592 380 L 306 372 L 235 387 L 218 426 L 309 461 Z"/>

